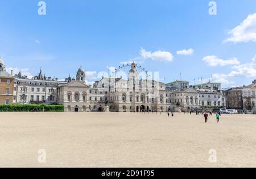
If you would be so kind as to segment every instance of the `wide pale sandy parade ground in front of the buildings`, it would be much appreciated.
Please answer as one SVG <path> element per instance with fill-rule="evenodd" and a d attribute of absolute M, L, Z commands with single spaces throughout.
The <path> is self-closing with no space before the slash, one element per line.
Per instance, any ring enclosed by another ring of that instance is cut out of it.
<path fill-rule="evenodd" d="M 0 113 L 0 166 L 256 167 L 256 115 Z"/>

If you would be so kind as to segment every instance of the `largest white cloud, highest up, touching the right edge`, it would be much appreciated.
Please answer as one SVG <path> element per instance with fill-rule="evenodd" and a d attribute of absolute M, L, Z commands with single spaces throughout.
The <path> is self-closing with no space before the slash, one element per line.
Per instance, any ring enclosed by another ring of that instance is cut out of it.
<path fill-rule="evenodd" d="M 230 38 L 224 42 L 249 42 L 256 41 L 256 13 L 247 16 L 243 22 L 228 32 Z"/>

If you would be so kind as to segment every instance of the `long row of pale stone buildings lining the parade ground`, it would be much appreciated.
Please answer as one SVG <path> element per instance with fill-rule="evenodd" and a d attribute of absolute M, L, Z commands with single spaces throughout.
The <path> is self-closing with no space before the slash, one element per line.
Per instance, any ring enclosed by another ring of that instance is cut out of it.
<path fill-rule="evenodd" d="M 3 79 L 9 78 L 9 83 L 13 82 L 13 86 L 7 87 L 13 88 L 8 90 L 9 94 L 6 94 L 7 89 L 0 90 L 0 102 L 1 104 L 60 104 L 64 105 L 64 110 L 67 112 L 166 112 L 195 110 L 201 106 L 225 108 L 229 97 L 228 91 L 232 90 L 232 88 L 221 90 L 220 83 L 210 81 L 189 86 L 189 81 L 183 80 L 164 84 L 148 76 L 139 79 L 141 66 L 135 63 L 123 66 L 130 68 L 127 79 L 108 76 L 102 77 L 93 85 L 88 85 L 82 66 L 77 70 L 76 78 L 71 78 L 69 75 L 64 81 L 46 77 L 42 70 L 38 76 L 28 79 L 20 72 L 15 75 L 12 71 L 11 74 L 7 73 L 5 64 L 0 59 L 0 89 L 5 88 L 3 81 L 6 80 Z M 119 66 L 119 69 L 123 66 Z M 142 70 L 147 74 L 146 70 Z M 255 80 L 252 85 L 244 88 L 246 90 L 245 105 L 249 105 L 251 111 L 256 112 Z M 10 95 L 13 101 L 9 100 Z M 240 95 L 242 99 L 238 98 L 238 100 L 243 100 L 243 95 Z M 238 103 L 241 105 L 240 102 Z"/>

